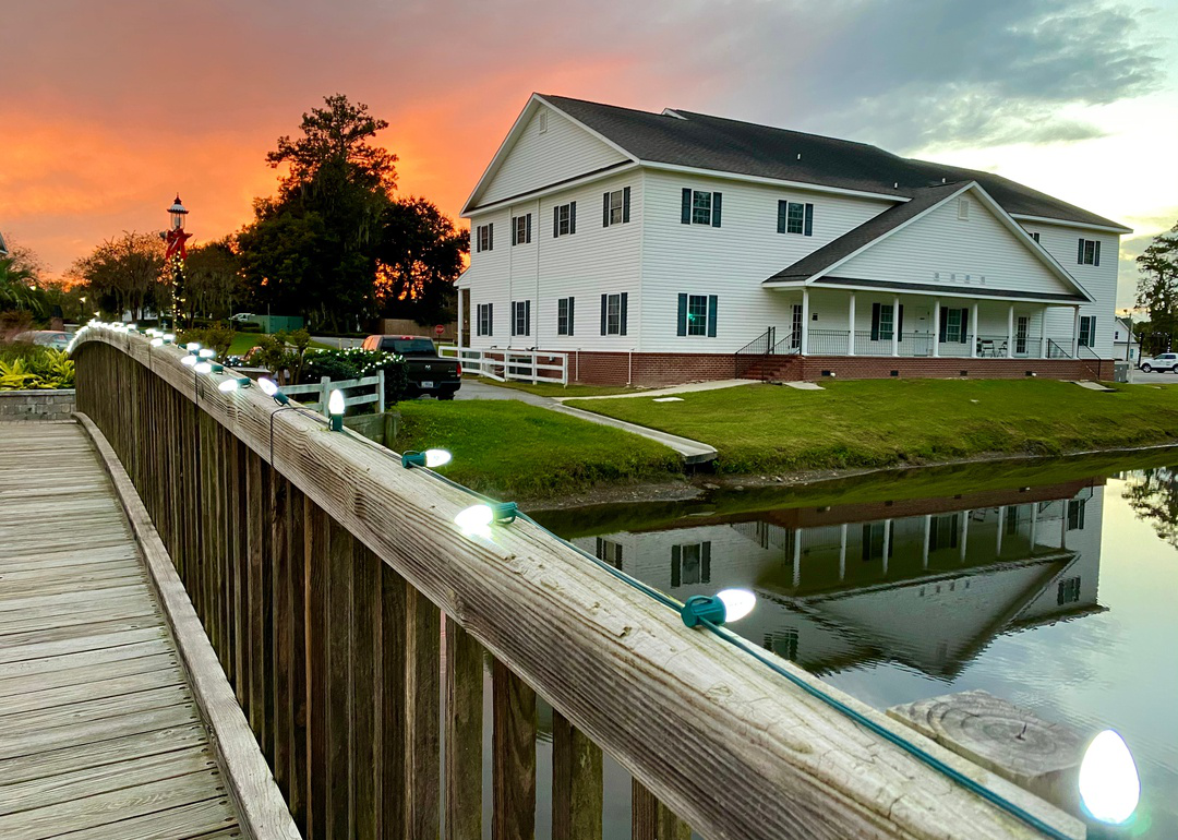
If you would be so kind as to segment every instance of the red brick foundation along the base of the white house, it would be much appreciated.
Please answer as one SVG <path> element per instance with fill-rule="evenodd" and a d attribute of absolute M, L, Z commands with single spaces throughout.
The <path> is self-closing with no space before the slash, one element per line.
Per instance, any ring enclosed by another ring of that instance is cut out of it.
<path fill-rule="evenodd" d="M 595 385 L 676 385 L 684 382 L 730 379 L 736 369 L 732 353 L 569 353 L 569 382 Z M 887 356 L 775 357 L 756 364 L 746 378 L 886 379 L 899 378 L 1023 379 L 1027 372 L 1047 379 L 1112 379 L 1111 359 L 994 359 L 893 358 Z M 965 373 L 962 373 L 965 371 Z"/>

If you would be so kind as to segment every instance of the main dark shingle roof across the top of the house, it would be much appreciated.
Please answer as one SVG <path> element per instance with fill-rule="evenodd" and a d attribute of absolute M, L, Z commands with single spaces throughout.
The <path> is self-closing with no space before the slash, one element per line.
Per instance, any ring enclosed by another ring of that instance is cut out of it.
<path fill-rule="evenodd" d="M 866 143 L 690 111 L 675 111 L 683 117 L 680 119 L 582 99 L 541 95 L 643 161 L 902 198 L 914 198 L 928 187 L 942 186 L 942 179 L 975 180 L 1008 213 L 1121 227 L 1116 221 L 992 172 L 901 158 Z"/>

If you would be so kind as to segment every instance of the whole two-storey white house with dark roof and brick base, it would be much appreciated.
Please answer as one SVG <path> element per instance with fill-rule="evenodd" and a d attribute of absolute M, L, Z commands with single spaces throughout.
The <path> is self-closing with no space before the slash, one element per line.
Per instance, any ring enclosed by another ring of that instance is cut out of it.
<path fill-rule="evenodd" d="M 541 94 L 463 217 L 462 346 L 635 383 L 1091 378 L 1130 232 L 987 172 Z"/>

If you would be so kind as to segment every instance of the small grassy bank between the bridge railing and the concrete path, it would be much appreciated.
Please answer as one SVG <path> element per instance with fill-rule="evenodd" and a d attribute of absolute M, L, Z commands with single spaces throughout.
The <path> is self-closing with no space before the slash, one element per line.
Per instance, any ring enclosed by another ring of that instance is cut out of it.
<path fill-rule="evenodd" d="M 679 455 L 661 444 L 516 401 L 412 401 L 397 410 L 396 450 L 448 449 L 454 461 L 439 472 L 504 500 L 682 475 Z"/>

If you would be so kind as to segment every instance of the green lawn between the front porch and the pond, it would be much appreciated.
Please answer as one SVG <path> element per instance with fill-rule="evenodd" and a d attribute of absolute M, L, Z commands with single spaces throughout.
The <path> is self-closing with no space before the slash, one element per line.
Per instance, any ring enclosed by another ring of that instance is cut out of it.
<path fill-rule="evenodd" d="M 1106 393 L 1047 379 L 865 379 L 822 386 L 749 385 L 682 393 L 683 402 L 675 403 L 571 405 L 709 443 L 724 472 L 1178 444 L 1178 389 L 1171 388 L 1114 385 Z"/>

